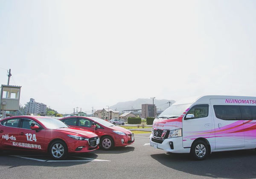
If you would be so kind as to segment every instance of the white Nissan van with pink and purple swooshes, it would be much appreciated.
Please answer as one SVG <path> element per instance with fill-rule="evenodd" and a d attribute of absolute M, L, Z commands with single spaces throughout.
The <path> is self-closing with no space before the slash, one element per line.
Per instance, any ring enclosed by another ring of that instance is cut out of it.
<path fill-rule="evenodd" d="M 256 97 L 201 96 L 178 101 L 154 119 L 150 145 L 198 160 L 217 151 L 256 148 Z"/>

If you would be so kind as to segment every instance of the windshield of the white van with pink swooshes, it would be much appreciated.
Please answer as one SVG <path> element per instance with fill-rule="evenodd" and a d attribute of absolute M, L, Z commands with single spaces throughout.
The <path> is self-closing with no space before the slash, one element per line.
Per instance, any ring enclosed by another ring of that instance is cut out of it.
<path fill-rule="evenodd" d="M 191 104 L 179 104 L 168 107 L 166 110 L 161 113 L 158 118 L 177 118 L 180 117 Z"/>

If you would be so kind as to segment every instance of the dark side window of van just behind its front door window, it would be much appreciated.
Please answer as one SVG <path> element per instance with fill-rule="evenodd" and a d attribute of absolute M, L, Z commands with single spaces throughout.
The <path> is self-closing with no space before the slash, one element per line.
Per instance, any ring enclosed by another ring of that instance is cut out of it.
<path fill-rule="evenodd" d="M 240 108 L 237 105 L 214 105 L 215 115 L 223 120 L 241 120 Z"/>

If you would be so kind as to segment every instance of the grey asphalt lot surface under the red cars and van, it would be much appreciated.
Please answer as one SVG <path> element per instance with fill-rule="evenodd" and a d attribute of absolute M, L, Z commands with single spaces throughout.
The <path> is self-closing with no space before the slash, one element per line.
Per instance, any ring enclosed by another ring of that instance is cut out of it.
<path fill-rule="evenodd" d="M 212 153 L 204 161 L 188 154 L 166 153 L 148 145 L 149 134 L 135 135 L 135 144 L 111 151 L 96 150 L 53 161 L 38 153 L 5 152 L 0 178 L 255 178 L 256 152 Z"/>

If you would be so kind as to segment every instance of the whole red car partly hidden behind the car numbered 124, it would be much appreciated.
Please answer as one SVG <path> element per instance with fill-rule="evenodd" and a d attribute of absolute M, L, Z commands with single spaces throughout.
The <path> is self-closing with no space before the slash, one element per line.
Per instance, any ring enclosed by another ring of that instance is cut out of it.
<path fill-rule="evenodd" d="M 130 130 L 115 126 L 100 118 L 74 116 L 61 118 L 60 120 L 70 127 L 90 130 L 96 133 L 100 138 L 99 147 L 103 150 L 134 143 L 134 134 Z"/>

